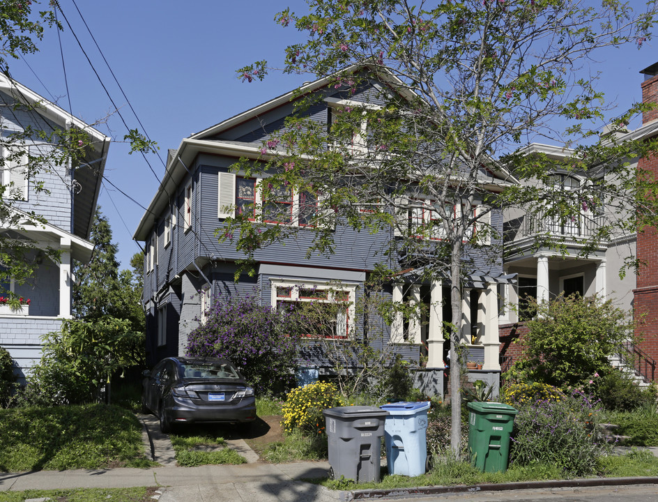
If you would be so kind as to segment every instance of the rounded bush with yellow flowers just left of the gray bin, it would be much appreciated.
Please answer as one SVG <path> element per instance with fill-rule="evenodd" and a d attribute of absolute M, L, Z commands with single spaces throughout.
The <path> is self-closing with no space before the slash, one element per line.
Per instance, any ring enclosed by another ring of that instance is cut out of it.
<path fill-rule="evenodd" d="M 323 434 L 325 430 L 322 410 L 344 406 L 344 402 L 333 383 L 316 382 L 291 390 L 282 406 L 281 425 L 286 432 L 301 429 L 305 432 Z"/>

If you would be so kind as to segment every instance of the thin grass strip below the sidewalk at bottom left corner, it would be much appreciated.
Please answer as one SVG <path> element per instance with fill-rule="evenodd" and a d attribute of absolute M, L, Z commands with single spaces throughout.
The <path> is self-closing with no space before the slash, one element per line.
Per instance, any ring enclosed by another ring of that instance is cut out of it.
<path fill-rule="evenodd" d="M 59 490 L 25 490 L 0 492 L 2 502 L 23 502 L 27 499 L 52 499 L 57 502 L 153 502 L 157 487 L 137 488 L 75 488 Z"/>

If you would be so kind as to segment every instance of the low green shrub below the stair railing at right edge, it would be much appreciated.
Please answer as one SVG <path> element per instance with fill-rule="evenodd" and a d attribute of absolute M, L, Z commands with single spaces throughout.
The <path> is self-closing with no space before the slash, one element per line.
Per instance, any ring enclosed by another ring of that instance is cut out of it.
<path fill-rule="evenodd" d="M 601 400 L 605 409 L 632 411 L 651 402 L 655 402 L 655 394 L 641 389 L 637 383 L 619 370 L 611 370 L 599 377 L 595 373 L 585 390 L 590 391 Z"/>

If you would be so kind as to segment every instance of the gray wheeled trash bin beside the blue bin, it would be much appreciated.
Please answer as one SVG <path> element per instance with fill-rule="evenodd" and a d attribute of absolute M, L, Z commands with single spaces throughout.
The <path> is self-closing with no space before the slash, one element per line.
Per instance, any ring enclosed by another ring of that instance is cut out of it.
<path fill-rule="evenodd" d="M 329 442 L 330 478 L 379 482 L 381 437 L 388 411 L 375 406 L 323 410 Z"/>

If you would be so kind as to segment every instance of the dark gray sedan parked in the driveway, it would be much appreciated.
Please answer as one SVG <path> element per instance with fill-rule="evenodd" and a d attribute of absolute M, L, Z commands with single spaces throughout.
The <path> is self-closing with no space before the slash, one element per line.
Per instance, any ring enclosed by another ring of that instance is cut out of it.
<path fill-rule="evenodd" d="M 141 408 L 160 418 L 160 430 L 178 423 L 250 423 L 256 419 L 254 389 L 225 359 L 162 359 L 144 371 Z"/>

